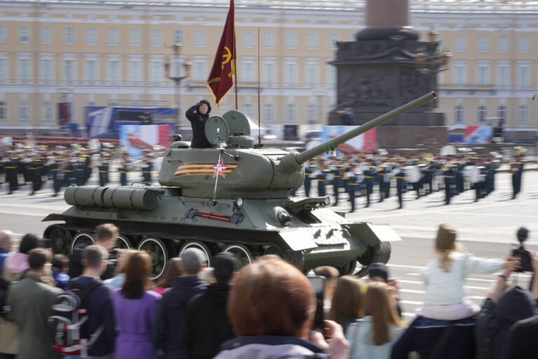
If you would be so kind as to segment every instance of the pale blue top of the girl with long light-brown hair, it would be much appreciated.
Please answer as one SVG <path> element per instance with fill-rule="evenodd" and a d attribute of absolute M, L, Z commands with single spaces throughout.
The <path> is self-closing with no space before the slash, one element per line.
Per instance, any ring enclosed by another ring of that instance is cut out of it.
<path fill-rule="evenodd" d="M 345 338 L 350 342 L 350 359 L 389 359 L 392 345 L 404 332 L 404 328 L 391 325 L 391 341 L 373 344 L 373 321 L 371 316 L 352 323 L 347 327 Z"/>

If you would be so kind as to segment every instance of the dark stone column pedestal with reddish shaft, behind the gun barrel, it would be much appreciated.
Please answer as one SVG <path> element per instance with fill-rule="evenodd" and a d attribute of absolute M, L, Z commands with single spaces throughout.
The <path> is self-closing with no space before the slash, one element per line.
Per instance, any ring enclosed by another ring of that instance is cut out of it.
<path fill-rule="evenodd" d="M 329 125 L 361 125 L 436 90 L 437 73 L 448 61 L 432 32 L 419 41 L 408 24 L 407 0 L 366 2 L 366 29 L 357 41 L 338 43 L 337 103 Z M 446 144 L 444 114 L 435 101 L 378 128 L 382 148 L 416 147 L 417 141 Z M 424 143 L 422 142 L 422 144 Z"/>

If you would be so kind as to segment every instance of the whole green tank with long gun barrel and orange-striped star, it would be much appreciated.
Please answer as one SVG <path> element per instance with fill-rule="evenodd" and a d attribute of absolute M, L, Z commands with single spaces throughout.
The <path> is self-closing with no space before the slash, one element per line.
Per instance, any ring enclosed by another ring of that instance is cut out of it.
<path fill-rule="evenodd" d="M 50 238 L 53 252 L 69 255 L 77 243 L 92 241 L 98 224 L 116 224 L 118 247 L 149 252 L 153 278 L 187 248 L 202 250 L 209 266 L 214 254 L 226 251 L 243 264 L 277 255 L 302 271 L 323 265 L 354 273 L 358 262 L 364 275 L 369 264 L 389 260 L 390 241 L 399 236 L 387 224 L 354 222 L 327 209 L 329 197 L 289 191 L 303 184 L 309 159 L 435 98 L 424 95 L 302 153 L 255 144 L 239 111 L 212 116 L 205 133 L 213 148 L 173 142 L 163 156 L 160 187 L 68 187 L 64 199 L 71 207 L 43 219 L 64 223 L 48 226 L 43 238 Z"/>

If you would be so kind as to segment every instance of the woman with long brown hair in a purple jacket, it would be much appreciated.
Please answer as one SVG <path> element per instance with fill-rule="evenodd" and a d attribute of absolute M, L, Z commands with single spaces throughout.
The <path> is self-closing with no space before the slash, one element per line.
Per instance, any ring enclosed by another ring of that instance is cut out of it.
<path fill-rule="evenodd" d="M 125 264 L 125 283 L 114 292 L 116 359 L 160 358 L 151 340 L 160 294 L 151 291 L 150 275 L 151 259 L 146 252 L 135 253 Z"/>

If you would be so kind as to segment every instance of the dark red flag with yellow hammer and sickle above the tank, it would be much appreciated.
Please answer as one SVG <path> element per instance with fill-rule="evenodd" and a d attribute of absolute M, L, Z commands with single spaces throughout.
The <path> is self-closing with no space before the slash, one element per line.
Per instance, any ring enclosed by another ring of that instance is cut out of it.
<path fill-rule="evenodd" d="M 228 92 L 233 88 L 232 75 L 235 74 L 234 13 L 233 0 L 230 0 L 230 10 L 226 17 L 221 42 L 216 50 L 215 61 L 209 73 L 209 78 L 205 83 L 205 86 L 211 91 L 217 107 L 219 107 L 224 96 L 228 95 Z"/>

